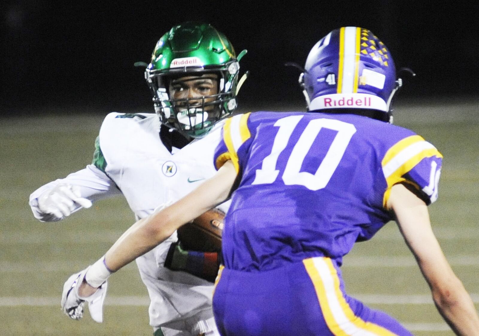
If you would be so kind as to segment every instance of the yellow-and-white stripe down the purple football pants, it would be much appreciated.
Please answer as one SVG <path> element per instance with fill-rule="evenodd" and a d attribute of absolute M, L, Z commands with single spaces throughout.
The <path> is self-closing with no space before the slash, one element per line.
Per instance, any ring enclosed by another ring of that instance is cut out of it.
<path fill-rule="evenodd" d="M 330 258 L 309 258 L 303 260 L 303 264 L 313 282 L 321 312 L 332 334 L 396 336 L 388 329 L 354 315 L 340 289 L 339 277 Z"/>

